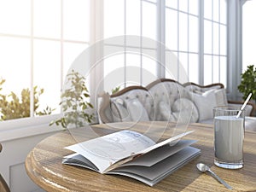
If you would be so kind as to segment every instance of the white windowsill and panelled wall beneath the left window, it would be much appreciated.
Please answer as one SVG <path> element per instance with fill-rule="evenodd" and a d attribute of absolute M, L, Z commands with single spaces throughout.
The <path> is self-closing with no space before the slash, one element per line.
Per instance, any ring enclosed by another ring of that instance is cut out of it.
<path fill-rule="evenodd" d="M 8 183 L 11 192 L 42 192 L 27 176 L 26 155 L 45 137 L 61 131 L 61 127 L 49 126 L 58 115 L 39 118 L 14 119 L 0 123 L 0 173 Z"/>

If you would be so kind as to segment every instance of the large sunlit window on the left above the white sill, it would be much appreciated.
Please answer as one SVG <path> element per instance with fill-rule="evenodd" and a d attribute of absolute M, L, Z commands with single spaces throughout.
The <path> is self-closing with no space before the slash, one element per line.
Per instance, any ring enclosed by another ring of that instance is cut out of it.
<path fill-rule="evenodd" d="M 44 89 L 38 111 L 48 106 L 60 113 L 63 79 L 88 47 L 89 32 L 90 0 L 1 1 L 0 78 L 6 80 L 1 93 L 20 96 L 38 86 Z M 30 105 L 31 117 L 34 109 Z"/>

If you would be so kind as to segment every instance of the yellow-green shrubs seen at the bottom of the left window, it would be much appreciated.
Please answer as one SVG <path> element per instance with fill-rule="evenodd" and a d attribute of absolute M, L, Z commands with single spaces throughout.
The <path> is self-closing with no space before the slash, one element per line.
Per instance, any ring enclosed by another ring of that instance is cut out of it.
<path fill-rule="evenodd" d="M 4 82 L 5 79 L 0 80 L 0 90 L 3 90 Z M 38 112 L 39 96 L 43 93 L 44 89 L 38 89 L 38 86 L 33 88 L 33 108 L 37 115 L 50 114 L 54 110 L 47 107 L 43 112 Z M 8 95 L 0 93 L 0 120 L 30 117 L 30 94 L 29 89 L 21 90 L 20 97 L 13 91 Z"/>

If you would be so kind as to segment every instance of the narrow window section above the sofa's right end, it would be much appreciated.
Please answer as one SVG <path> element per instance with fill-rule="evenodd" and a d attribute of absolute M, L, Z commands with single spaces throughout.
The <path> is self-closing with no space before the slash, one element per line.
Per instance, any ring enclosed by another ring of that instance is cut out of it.
<path fill-rule="evenodd" d="M 227 84 L 227 5 L 225 0 L 204 1 L 204 84 Z"/>

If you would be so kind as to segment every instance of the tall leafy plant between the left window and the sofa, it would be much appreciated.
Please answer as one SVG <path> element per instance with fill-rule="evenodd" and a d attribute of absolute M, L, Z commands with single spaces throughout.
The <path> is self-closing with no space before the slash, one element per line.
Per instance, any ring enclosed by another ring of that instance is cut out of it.
<path fill-rule="evenodd" d="M 61 125 L 67 127 L 81 127 L 85 122 L 91 123 L 94 119 L 94 114 L 87 113 L 86 110 L 93 108 L 90 102 L 89 91 L 85 85 L 85 78 L 78 72 L 72 70 L 67 74 L 68 89 L 61 94 L 60 105 L 64 116 L 60 119 L 55 119 L 49 125 Z"/>

